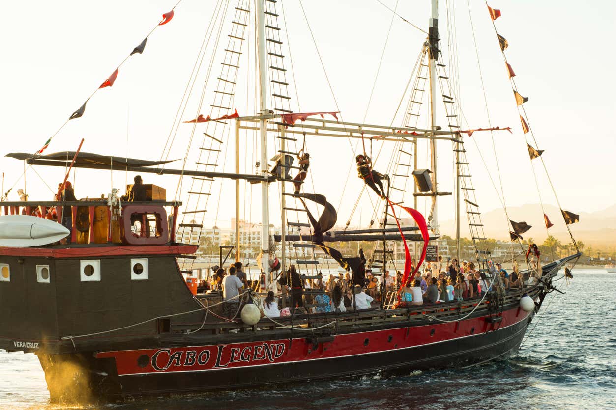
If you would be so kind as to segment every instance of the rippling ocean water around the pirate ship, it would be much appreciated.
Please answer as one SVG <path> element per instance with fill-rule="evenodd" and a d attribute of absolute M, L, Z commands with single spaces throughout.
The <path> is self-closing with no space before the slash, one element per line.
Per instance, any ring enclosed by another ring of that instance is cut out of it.
<path fill-rule="evenodd" d="M 530 337 L 508 360 L 403 377 L 377 375 L 80 408 L 616 408 L 616 274 L 575 269 L 573 276 L 568 286 L 558 282 L 566 294 L 546 297 L 527 331 Z M 0 352 L 0 408 L 67 407 L 49 404 L 44 374 L 33 354 Z"/>

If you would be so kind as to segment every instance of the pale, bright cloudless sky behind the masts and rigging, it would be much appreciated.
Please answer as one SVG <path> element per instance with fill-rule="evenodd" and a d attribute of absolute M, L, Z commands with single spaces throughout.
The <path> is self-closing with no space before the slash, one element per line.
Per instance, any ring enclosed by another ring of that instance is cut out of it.
<path fill-rule="evenodd" d="M 237 6 L 235 3 L 229 2 L 230 10 Z M 239 3 L 243 7 L 252 2 Z M 286 25 L 282 22 L 281 3 L 285 6 Z M 426 30 L 428 1 L 383 0 L 383 3 Z M 63 169 L 28 168 L 24 182 L 23 163 L 4 158 L 4 155 L 32 153 L 41 148 L 152 30 L 161 15 L 175 4 L 176 0 L 108 0 L 104 7 L 83 1 L 9 2 L 3 5 L 3 14 L 9 18 L 5 18 L 0 26 L 0 36 L 4 39 L 0 59 L 0 78 L 3 79 L 0 170 L 4 173 L 4 191 L 14 187 L 9 199 L 17 200 L 15 192 L 24 185 L 31 200 L 51 199 L 49 187 L 62 181 Z M 498 32 L 508 39 L 506 56 L 517 74 L 518 91 L 529 97 L 524 107 L 537 137 L 537 148 L 545 150 L 543 159 L 562 207 L 573 212 L 590 212 L 616 203 L 613 177 L 616 135 L 610 127 L 616 113 L 616 85 L 611 75 L 616 62 L 609 48 L 616 37 L 612 22 L 616 5 L 607 1 L 581 4 L 555 0 L 493 0 L 489 4 L 501 10 L 502 16 L 495 25 Z M 215 5 L 215 1 L 182 0 L 171 22 L 158 26 L 148 38 L 145 52 L 128 59 L 120 68 L 113 87 L 99 90 L 87 103 L 85 115 L 63 127 L 46 153 L 75 150 L 83 138 L 82 150 L 86 152 L 140 159 L 168 156 L 169 159 L 179 159 L 172 163 L 174 167 L 181 167 L 181 159 L 187 157 L 187 169 L 194 169 L 203 124 L 196 128 L 192 143 L 189 143 L 192 126 L 180 124 L 168 153 L 164 151 L 164 145 L 172 134 L 170 130 L 176 113 L 182 107 L 182 95 Z M 288 39 L 287 34 L 283 34 L 283 54 L 288 56 L 285 57 L 285 67 L 291 80 L 290 61 L 293 60 L 294 81 L 289 81 L 292 84 L 289 88 L 291 108 L 294 111 L 341 111 L 345 121 L 360 123 L 365 118 L 367 123 L 389 125 L 426 35 L 399 17 L 392 20 L 392 12 L 376 0 L 312 0 L 301 3 L 279 0 L 277 10 L 279 25 L 287 29 Z M 513 134 L 501 131 L 490 135 L 484 132 L 464 137 L 480 206 L 485 211 L 502 207 L 500 180 L 506 206 L 539 203 L 511 85 L 485 2 L 470 0 L 467 5 L 466 1 L 456 1 L 448 7 L 448 3 L 441 0 L 439 12 L 441 49 L 446 62 L 450 50 L 457 46 L 459 70 L 455 77 L 460 79 L 460 85 L 456 89 L 468 126 L 477 128 L 492 124 L 510 126 L 514 131 Z M 455 15 L 455 41 L 447 38 L 448 12 Z M 231 16 L 228 14 L 224 18 L 223 36 L 230 32 Z M 248 39 L 240 59 L 242 68 L 233 105 L 240 115 L 250 115 L 256 110 L 254 35 L 251 30 L 246 32 Z M 221 42 L 218 47 L 214 41 L 208 44 L 202 65 L 204 69 L 197 74 L 182 120 L 195 118 L 197 113 L 210 114 L 209 104 L 213 101 L 214 90 L 209 86 L 213 84 L 211 80 L 206 83 L 201 110 L 198 110 L 199 97 L 210 62 L 213 62 L 210 79 L 219 73 L 221 52 L 226 42 Z M 378 70 L 381 55 L 383 60 Z M 484 80 L 487 111 L 478 62 Z M 328 84 L 331 84 L 331 89 Z M 370 98 L 373 84 L 375 89 Z M 439 123 L 442 124 L 442 104 L 438 110 Z M 426 117 L 421 118 L 419 127 L 426 127 L 427 121 Z M 394 124 L 399 125 L 400 119 Z M 223 149 L 216 171 L 233 172 L 234 135 L 224 132 L 220 137 L 225 142 L 224 147 L 228 148 Z M 271 157 L 276 148 L 274 135 L 269 138 Z M 241 139 L 240 172 L 253 173 L 254 163 L 259 158 L 255 135 L 246 132 Z M 352 225 L 365 226 L 373 214 L 371 203 L 378 202 L 378 199 L 373 194 L 368 198 L 368 194 L 363 193 L 359 206 L 352 212 L 363 183 L 352 166 L 355 154 L 359 153 L 357 150 L 361 150 L 356 148 L 356 144 L 357 141 L 346 139 L 307 137 L 306 149 L 312 162 L 304 190 L 327 196 L 338 208 L 339 223 L 344 224 L 351 218 Z M 374 143 L 375 153 L 379 148 L 381 143 Z M 424 148 L 419 147 L 420 167 L 426 167 Z M 383 148 L 381 159 L 375 161 L 376 170 L 386 169 L 391 150 L 391 145 Z M 452 191 L 451 143 L 439 143 L 438 151 L 442 177 L 439 188 Z M 556 204 L 538 161 L 536 159 L 533 165 L 541 199 L 544 203 Z M 106 195 L 112 185 L 121 188 L 134 175 L 115 171 L 111 181 L 111 172 L 79 170 L 74 179 L 76 196 L 93 198 Z M 189 180 L 184 180 L 182 188 L 178 189 L 177 177 L 147 174 L 144 179 L 145 183 L 165 187 L 168 199 L 188 199 Z M 290 190 L 291 185 L 286 189 Z M 279 190 L 279 184 L 270 188 L 273 223 L 280 218 L 277 211 Z M 259 222 L 260 188 L 242 182 L 241 191 L 241 217 Z M 212 195 L 208 199 L 208 213 L 203 224 L 206 227 L 214 224 L 229 226 L 234 215 L 234 183 L 214 182 L 208 192 Z M 412 197 L 406 196 L 405 200 L 407 204 L 413 203 Z M 419 201 L 419 210 L 426 212 L 423 201 Z M 453 219 L 452 212 L 452 197 L 444 197 L 439 202 L 439 219 Z M 509 216 L 514 220 L 525 217 Z M 552 218 L 553 222 L 555 219 L 558 219 L 557 215 Z M 503 221 L 505 225 L 505 217 Z M 506 234 L 505 227 L 503 231 Z"/>

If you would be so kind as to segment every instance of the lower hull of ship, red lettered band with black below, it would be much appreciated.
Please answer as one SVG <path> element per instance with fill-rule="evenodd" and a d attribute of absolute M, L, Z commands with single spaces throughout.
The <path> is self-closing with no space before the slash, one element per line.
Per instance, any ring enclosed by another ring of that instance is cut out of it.
<path fill-rule="evenodd" d="M 251 335 L 247 337 L 251 341 L 234 344 L 94 352 L 79 359 L 71 355 L 41 357 L 41 364 L 54 401 L 67 399 L 66 386 L 54 391 L 58 384 L 48 374 L 62 368 L 60 362 L 79 363 L 81 377 L 73 379 L 87 380 L 90 399 L 95 400 L 257 388 L 379 373 L 409 374 L 511 355 L 519 348 L 533 315 L 516 307 L 499 316 L 452 323 L 398 324 L 389 329 L 381 326 L 336 336 L 292 339 Z"/>

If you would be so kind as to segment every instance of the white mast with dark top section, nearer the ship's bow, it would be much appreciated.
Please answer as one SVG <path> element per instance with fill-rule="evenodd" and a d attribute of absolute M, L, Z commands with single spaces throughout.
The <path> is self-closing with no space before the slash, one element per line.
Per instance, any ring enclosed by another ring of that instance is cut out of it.
<path fill-rule="evenodd" d="M 430 47 L 430 129 L 436 131 L 436 61 L 439 58 L 439 0 L 431 0 L 428 42 Z M 430 140 L 430 166 L 432 168 L 432 232 L 439 232 L 439 212 L 437 208 L 436 140 Z"/>

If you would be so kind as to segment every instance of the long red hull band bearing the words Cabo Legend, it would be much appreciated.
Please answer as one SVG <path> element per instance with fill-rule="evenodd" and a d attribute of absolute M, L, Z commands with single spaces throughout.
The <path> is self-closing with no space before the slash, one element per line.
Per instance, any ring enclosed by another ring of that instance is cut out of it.
<path fill-rule="evenodd" d="M 333 342 L 318 345 L 302 337 L 293 340 L 121 350 L 100 352 L 95 356 L 99 359 L 115 358 L 119 376 L 244 368 L 368 355 L 463 339 L 508 328 L 525 320 L 528 315 L 514 308 L 503 312 L 500 323 L 490 323 L 486 320 L 488 316 L 483 316 L 461 322 L 341 334 L 335 336 Z"/>

